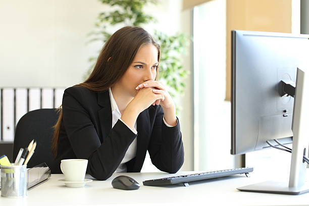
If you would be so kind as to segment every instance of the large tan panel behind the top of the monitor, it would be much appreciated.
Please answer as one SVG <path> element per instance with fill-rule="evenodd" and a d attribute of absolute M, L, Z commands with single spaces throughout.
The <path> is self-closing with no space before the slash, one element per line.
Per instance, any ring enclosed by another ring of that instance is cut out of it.
<path fill-rule="evenodd" d="M 291 33 L 291 0 L 226 0 L 226 99 L 231 100 L 231 30 Z"/>

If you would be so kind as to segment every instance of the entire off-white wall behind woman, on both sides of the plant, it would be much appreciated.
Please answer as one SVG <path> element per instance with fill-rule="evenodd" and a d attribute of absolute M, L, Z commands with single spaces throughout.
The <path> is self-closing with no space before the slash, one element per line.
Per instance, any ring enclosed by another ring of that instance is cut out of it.
<path fill-rule="evenodd" d="M 144 28 L 168 34 L 191 34 L 190 11 L 182 12 L 182 1 L 159 1 L 145 11 L 158 19 Z M 107 11 L 97 0 L 13 0 L 0 4 L 0 87 L 64 86 L 82 82 L 88 58 L 97 56 L 99 42 L 87 44 L 99 12 Z M 184 66 L 191 70 L 190 52 Z M 190 77 L 179 104 L 185 146 L 182 170 L 192 170 L 192 119 Z M 149 161 L 148 161 L 149 163 Z M 151 167 L 148 167 L 149 170 Z M 148 170 L 145 168 L 145 170 Z"/>

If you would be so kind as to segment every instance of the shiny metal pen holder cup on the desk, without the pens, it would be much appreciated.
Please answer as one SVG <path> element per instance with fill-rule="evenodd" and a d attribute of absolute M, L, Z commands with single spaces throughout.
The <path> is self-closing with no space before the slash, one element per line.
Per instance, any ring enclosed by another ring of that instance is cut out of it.
<path fill-rule="evenodd" d="M 1 166 L 1 196 L 25 197 L 27 188 L 27 165 Z"/>

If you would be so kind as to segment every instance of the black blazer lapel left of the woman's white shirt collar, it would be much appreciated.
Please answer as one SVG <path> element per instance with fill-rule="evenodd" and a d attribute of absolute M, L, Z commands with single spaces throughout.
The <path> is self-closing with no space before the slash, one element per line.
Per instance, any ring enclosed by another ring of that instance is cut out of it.
<path fill-rule="evenodd" d="M 101 142 L 104 141 L 112 130 L 112 107 L 109 90 L 97 93 L 99 128 L 101 129 Z"/>

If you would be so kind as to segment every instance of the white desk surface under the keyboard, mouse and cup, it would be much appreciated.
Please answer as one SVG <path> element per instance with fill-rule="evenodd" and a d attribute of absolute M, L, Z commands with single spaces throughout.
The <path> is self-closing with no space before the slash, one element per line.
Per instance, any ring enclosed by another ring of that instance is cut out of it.
<path fill-rule="evenodd" d="M 307 170 L 307 174 L 308 174 Z M 84 187 L 69 188 L 63 182 L 64 175 L 52 175 L 41 185 L 28 191 L 25 198 L 0 197 L 0 205 L 304 205 L 309 204 L 309 193 L 301 195 L 241 192 L 236 187 L 265 181 L 269 176 L 250 177 L 236 175 L 225 178 L 191 182 L 184 187 L 143 186 L 142 181 L 167 176 L 197 172 L 167 173 L 115 173 L 106 181 L 93 180 Z M 138 190 L 119 190 L 112 187 L 112 180 L 128 175 L 141 184 Z M 91 178 L 86 175 L 86 178 Z M 91 178 L 92 179 L 92 178 Z M 308 178 L 307 178 L 308 179 Z M 192 204 L 193 203 L 193 204 Z"/>

